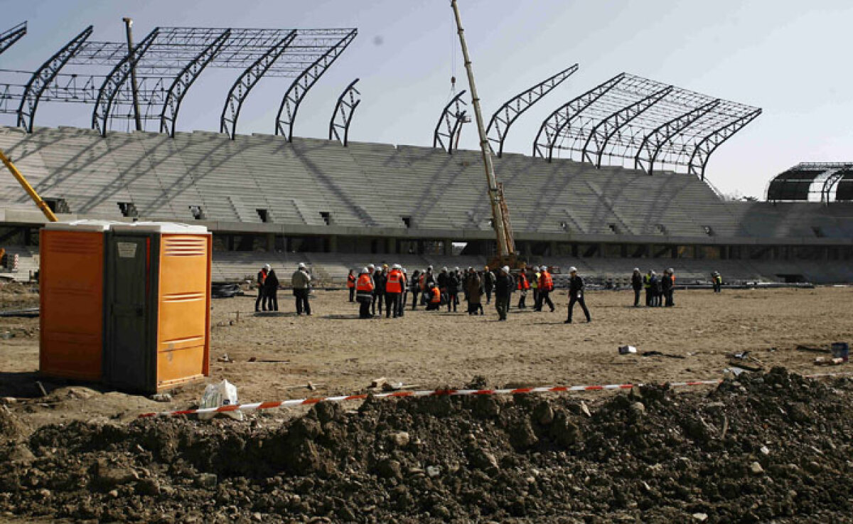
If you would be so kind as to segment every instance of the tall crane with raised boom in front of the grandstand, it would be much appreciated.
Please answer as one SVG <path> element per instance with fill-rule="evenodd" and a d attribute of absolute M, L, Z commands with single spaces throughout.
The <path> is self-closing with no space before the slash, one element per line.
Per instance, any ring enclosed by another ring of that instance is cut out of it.
<path fill-rule="evenodd" d="M 503 197 L 503 185 L 497 182 L 495 177 L 495 166 L 491 158 L 489 140 L 486 138 L 485 125 L 483 125 L 483 114 L 480 111 L 477 86 L 474 84 L 474 73 L 471 68 L 471 56 L 468 55 L 468 46 L 465 43 L 465 30 L 462 29 L 462 20 L 459 15 L 459 6 L 456 0 L 450 0 L 450 7 L 456 18 L 456 32 L 459 33 L 459 44 L 462 47 L 462 57 L 465 59 L 465 71 L 468 75 L 468 85 L 471 88 L 471 102 L 474 108 L 474 118 L 477 120 L 477 131 L 479 131 L 480 151 L 483 154 L 485 166 L 485 178 L 489 188 L 489 203 L 491 206 L 491 225 L 497 237 L 497 257 L 490 261 L 490 266 L 508 265 L 514 268 L 516 265 L 515 241 L 513 239 L 513 228 L 509 224 L 509 209 L 507 201 Z"/>

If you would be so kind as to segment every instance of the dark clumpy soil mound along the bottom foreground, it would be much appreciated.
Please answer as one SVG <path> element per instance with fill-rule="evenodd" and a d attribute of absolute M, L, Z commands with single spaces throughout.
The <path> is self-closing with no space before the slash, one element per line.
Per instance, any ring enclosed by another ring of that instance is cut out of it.
<path fill-rule="evenodd" d="M 0 450 L 0 512 L 99 521 L 853 521 L 853 381 L 710 393 L 368 400 L 286 425 L 47 426 Z M 322 518 L 316 518 L 322 517 Z"/>

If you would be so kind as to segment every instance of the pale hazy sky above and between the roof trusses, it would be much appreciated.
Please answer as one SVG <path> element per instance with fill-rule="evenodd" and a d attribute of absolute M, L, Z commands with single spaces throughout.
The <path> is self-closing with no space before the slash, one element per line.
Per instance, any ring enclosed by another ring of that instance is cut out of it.
<path fill-rule="evenodd" d="M 363 101 L 351 140 L 432 145 L 450 77 L 456 73 L 457 89 L 467 89 L 445 0 L 0 0 L 0 6 L 7 20 L 0 31 L 29 22 L 27 36 L 0 56 L 0 67 L 28 71 L 89 24 L 93 40 L 122 41 L 123 16 L 135 20 L 137 40 L 154 26 L 357 27 L 356 41 L 299 109 L 297 136 L 327 137 L 340 91 L 360 78 Z M 515 123 L 508 151 L 531 154 L 554 108 L 625 71 L 763 108 L 711 157 L 708 177 L 725 193 L 763 196 L 769 178 L 797 162 L 853 160 L 850 0 L 460 0 L 460 6 L 487 120 L 519 91 L 580 65 Z M 178 129 L 218 131 L 224 96 L 238 74 L 206 71 L 183 103 Z M 262 80 L 238 132 L 272 133 L 289 82 Z M 37 125 L 88 126 L 91 108 L 45 104 Z M 0 123 L 14 119 L 0 115 Z M 473 125 L 461 147 L 478 147 Z"/>

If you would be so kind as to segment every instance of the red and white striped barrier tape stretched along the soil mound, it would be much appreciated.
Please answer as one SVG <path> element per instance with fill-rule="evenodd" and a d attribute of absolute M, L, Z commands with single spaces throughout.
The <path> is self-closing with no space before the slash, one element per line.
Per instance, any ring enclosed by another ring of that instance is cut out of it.
<path fill-rule="evenodd" d="M 822 378 L 827 376 L 844 376 L 853 375 L 853 373 L 821 373 L 816 375 L 805 375 L 805 378 Z M 666 382 L 670 387 L 689 387 L 689 386 L 716 386 L 722 382 L 722 379 L 711 381 L 687 381 L 687 382 Z M 514 395 L 519 393 L 566 393 L 573 391 L 604 391 L 607 389 L 630 389 L 632 387 L 649 386 L 650 384 L 606 384 L 602 386 L 543 386 L 543 387 L 516 387 L 514 389 L 436 389 L 424 391 L 393 391 L 390 393 L 372 393 L 374 399 L 390 399 L 390 398 L 409 398 L 409 397 L 458 397 L 463 395 Z M 294 405 L 313 405 L 319 402 L 344 402 L 345 400 L 364 400 L 370 394 L 360 393 L 357 395 L 343 395 L 339 397 L 319 397 L 315 399 L 293 399 L 281 400 L 278 402 L 254 402 L 252 404 L 235 404 L 223 405 L 218 408 L 201 408 L 198 410 L 177 410 L 177 411 L 162 411 L 160 413 L 143 413 L 139 416 L 179 416 L 179 415 L 198 415 L 200 413 L 223 413 L 225 411 L 253 411 L 253 410 L 271 410 L 274 408 L 282 408 Z"/>

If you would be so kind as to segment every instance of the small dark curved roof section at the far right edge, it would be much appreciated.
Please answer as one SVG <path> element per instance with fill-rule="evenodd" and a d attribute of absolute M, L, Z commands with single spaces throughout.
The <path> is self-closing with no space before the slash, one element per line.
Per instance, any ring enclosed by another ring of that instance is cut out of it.
<path fill-rule="evenodd" d="M 776 175 L 768 201 L 853 201 L 853 162 L 803 162 Z"/>

